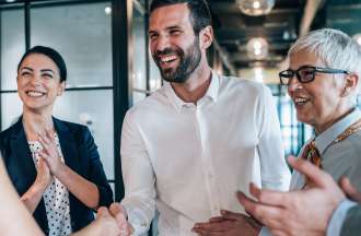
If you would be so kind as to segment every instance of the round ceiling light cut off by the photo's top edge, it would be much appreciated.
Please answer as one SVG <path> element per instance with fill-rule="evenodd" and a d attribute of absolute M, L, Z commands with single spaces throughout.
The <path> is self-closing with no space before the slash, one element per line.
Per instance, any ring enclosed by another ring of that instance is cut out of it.
<path fill-rule="evenodd" d="M 246 15 L 264 15 L 268 14 L 275 7 L 275 0 L 237 0 L 241 11 Z"/>

